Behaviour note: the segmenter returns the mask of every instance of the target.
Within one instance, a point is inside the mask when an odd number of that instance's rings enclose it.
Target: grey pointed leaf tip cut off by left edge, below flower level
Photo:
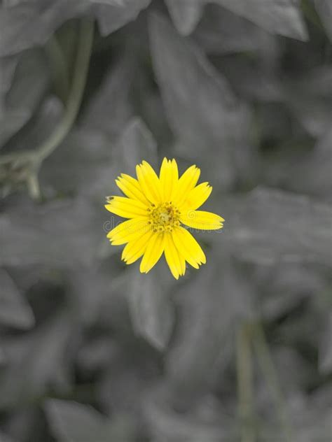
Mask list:
[[[34,314],[21,296],[15,283],[4,269],[0,269],[0,322],[1,324],[29,329],[34,326]]]

